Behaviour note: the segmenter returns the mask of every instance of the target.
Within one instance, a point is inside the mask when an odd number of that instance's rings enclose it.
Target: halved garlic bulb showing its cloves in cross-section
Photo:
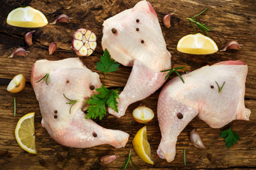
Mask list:
[[[95,33],[85,28],[80,28],[73,35],[72,47],[79,56],[89,56],[97,47]]]

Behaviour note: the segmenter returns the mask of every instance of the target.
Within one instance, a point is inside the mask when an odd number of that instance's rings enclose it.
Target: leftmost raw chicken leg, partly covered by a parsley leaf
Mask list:
[[[41,80],[46,74],[48,78]],[[126,145],[129,137],[126,132],[108,130],[85,119],[82,111],[87,108],[85,101],[97,93],[95,89],[102,84],[99,75],[87,69],[78,58],[38,60],[33,64],[31,84],[39,101],[41,123],[56,142],[80,148]],[[77,102],[72,106],[68,99]]]

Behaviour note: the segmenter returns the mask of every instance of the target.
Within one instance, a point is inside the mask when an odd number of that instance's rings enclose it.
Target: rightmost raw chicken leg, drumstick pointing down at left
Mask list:
[[[171,79],[161,90],[157,106],[162,136],[159,157],[174,160],[177,137],[196,115],[211,128],[235,119],[249,120],[244,101],[247,69],[244,62],[225,61],[184,74],[185,84],[179,77]]]

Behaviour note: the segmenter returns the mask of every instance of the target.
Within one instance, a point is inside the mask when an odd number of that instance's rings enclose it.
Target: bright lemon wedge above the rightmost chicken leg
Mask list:
[[[177,50],[191,55],[210,55],[218,51],[218,46],[212,39],[197,33],[181,38]]]

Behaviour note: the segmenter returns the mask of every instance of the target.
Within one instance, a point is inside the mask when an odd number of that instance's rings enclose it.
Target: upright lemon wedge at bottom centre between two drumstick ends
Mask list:
[[[148,164],[154,164],[151,161],[151,149],[149,142],[146,137],[146,126],[141,128],[132,140],[132,145],[134,147],[135,152],[139,155],[139,157]]]

